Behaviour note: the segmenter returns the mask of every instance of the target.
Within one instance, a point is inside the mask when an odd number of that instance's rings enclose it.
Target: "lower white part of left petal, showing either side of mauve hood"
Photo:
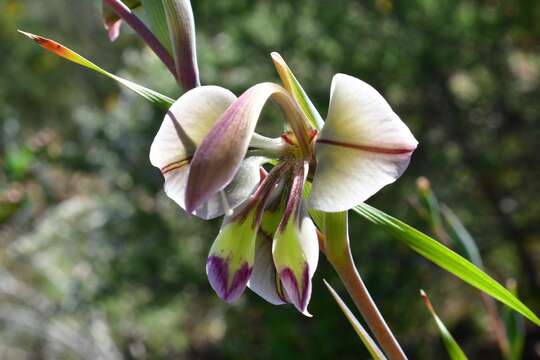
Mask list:
[[[227,207],[234,209],[246,200],[255,190],[260,181],[259,158],[244,160],[236,173],[233,181],[227,185],[223,195],[218,193],[208,202],[195,210],[194,214],[205,220],[213,219],[226,213]],[[165,176],[165,193],[185,210],[186,185],[189,173],[189,165],[168,171]]]

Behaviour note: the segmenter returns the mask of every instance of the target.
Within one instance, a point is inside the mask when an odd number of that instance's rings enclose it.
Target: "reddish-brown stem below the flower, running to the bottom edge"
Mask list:
[[[350,248],[346,247],[346,254],[340,257],[340,261],[332,261],[330,258],[329,260],[388,358],[391,360],[407,359],[362,281]]]

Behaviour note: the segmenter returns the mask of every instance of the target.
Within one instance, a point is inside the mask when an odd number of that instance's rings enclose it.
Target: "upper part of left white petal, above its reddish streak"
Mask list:
[[[150,162],[158,168],[190,158],[236,96],[218,86],[201,86],[171,106],[150,148]]]

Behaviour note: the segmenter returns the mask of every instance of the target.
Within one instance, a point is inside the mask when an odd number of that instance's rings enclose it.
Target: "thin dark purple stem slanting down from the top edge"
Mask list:
[[[163,64],[169,69],[174,78],[177,79],[176,67],[174,59],[171,57],[167,49],[159,42],[158,38],[146,27],[121,0],[105,0],[107,4],[120,16],[126,23],[131,26],[137,34],[148,44],[150,49],[161,59]]]

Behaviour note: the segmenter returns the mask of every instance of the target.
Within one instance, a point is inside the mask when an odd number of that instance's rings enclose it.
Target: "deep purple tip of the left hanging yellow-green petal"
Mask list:
[[[206,261],[206,273],[212,289],[226,302],[232,302],[240,297],[251,276],[253,268],[247,263],[236,271],[232,283],[229,280],[229,261],[219,256],[210,256]]]

